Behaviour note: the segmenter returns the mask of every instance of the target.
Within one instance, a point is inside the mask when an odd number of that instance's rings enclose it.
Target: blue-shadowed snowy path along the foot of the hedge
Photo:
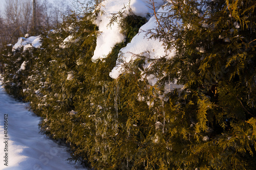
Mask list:
[[[0,169],[86,169],[66,160],[69,157],[66,147],[39,134],[39,117],[29,112],[27,106],[6,94],[0,82]],[[5,114],[8,114],[7,137]]]

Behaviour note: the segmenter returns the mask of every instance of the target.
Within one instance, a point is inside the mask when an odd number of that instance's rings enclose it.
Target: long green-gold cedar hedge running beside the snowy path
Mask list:
[[[97,11],[70,15],[41,34],[40,48],[5,48],[5,89],[30,102],[42,133],[70,144],[71,159],[95,169],[254,169],[255,5],[167,3],[148,34],[175,57],[135,55],[117,79],[109,72],[131,39],[92,61]],[[119,26],[133,37],[145,22],[125,16]],[[173,82],[184,88],[165,93]]]

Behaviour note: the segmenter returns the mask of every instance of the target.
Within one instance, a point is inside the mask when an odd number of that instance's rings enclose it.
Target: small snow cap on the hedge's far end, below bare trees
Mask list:
[[[18,42],[12,47],[12,51],[14,52],[22,46],[24,46],[24,51],[28,50],[28,48],[32,46],[38,48],[41,46],[41,38],[40,36],[31,36],[28,38],[20,37],[18,38]]]

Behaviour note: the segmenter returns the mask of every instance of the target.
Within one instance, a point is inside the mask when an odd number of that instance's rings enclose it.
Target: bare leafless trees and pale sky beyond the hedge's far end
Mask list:
[[[0,14],[0,48],[8,43],[15,43],[26,34],[39,35],[41,31],[58,27],[63,18],[71,13],[71,3],[63,1],[36,1],[36,28],[32,30],[33,1],[6,0],[4,11]]]

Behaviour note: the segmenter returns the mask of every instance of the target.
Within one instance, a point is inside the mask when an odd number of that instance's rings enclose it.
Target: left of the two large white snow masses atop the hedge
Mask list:
[[[155,7],[158,10],[163,4],[164,0],[155,0]],[[104,11],[103,15],[98,15],[95,24],[99,27],[100,35],[97,37],[97,44],[92,57],[93,60],[102,59],[108,55],[115,44],[125,40],[125,36],[120,33],[118,24],[114,23],[108,27],[110,17],[113,13],[117,13],[126,6],[126,15],[138,15],[142,17],[152,16],[154,13],[152,9],[152,1],[147,0],[109,0],[101,3],[101,10]]]

